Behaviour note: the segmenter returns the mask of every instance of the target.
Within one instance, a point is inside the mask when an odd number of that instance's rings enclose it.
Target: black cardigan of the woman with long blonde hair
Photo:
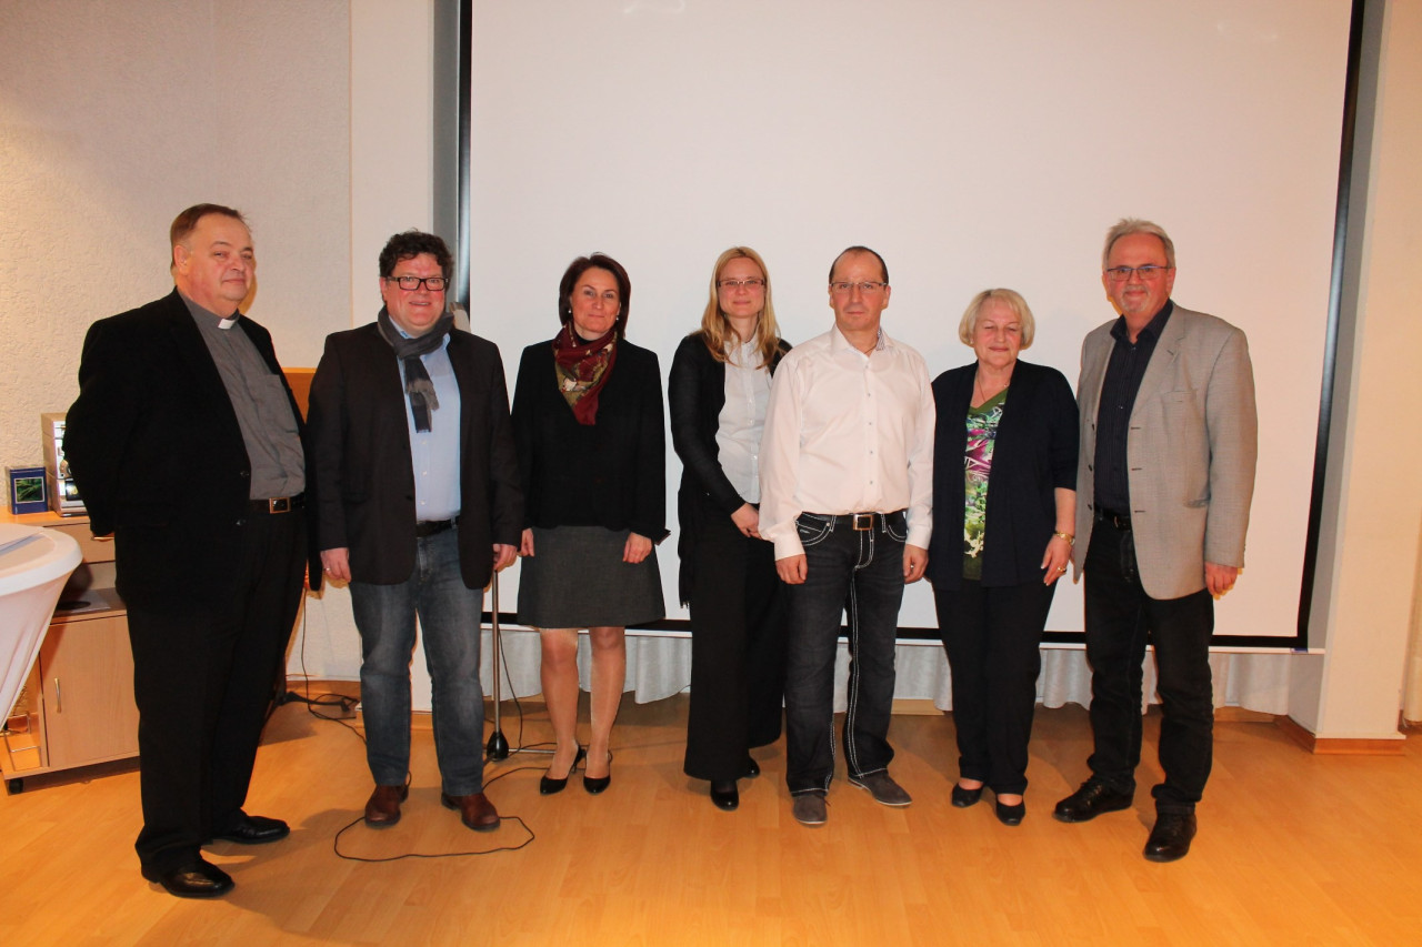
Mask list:
[[[789,350],[789,343],[779,340],[775,358],[771,360],[771,374],[775,374],[775,367]],[[677,556],[681,559],[678,590],[681,603],[687,604],[691,599],[691,550],[695,547],[701,508],[697,501],[710,499],[727,516],[745,503],[721,469],[721,449],[715,442],[721,408],[725,407],[725,363],[711,355],[700,330],[677,346],[677,354],[671,358],[667,397],[671,401],[671,446],[681,458],[681,489],[677,492],[681,532],[677,537]]]

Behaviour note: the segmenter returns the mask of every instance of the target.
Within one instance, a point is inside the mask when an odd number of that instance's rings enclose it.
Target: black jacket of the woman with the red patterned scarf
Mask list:
[[[583,425],[557,390],[553,344],[529,346],[513,388],[513,439],[525,525],[667,537],[667,437],[656,353],[619,341],[597,398],[597,424]]]

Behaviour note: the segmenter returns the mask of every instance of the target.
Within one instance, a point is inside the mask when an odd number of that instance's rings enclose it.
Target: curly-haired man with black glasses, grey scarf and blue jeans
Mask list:
[[[499,828],[483,793],[479,616],[515,559],[523,492],[493,343],[454,327],[445,242],[407,230],[380,255],[375,321],[334,333],[311,380],[317,545],[350,583],[361,636],[365,825],[408,796],[415,617],[434,688],[441,802],[478,832]]]

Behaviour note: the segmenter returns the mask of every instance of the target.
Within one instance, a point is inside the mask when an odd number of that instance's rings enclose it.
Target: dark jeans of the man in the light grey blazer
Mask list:
[[[1152,791],[1159,812],[1190,812],[1210,776],[1214,694],[1210,634],[1214,600],[1204,589],[1152,599],[1140,586],[1130,529],[1096,522],[1086,550],[1086,660],[1091,663],[1088,765],[1118,792],[1135,792],[1140,762],[1140,683],[1146,641],[1155,646],[1160,694],[1160,768]]]

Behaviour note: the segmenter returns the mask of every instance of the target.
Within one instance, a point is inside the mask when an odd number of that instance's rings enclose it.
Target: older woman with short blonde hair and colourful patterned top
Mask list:
[[[978,293],[958,324],[977,361],[933,382],[929,579],[953,675],[953,805],[987,785],[1005,825],[1027,812],[1038,648],[1076,515],[1076,400],[1055,368],[1018,361],[1034,328],[1020,294]]]

